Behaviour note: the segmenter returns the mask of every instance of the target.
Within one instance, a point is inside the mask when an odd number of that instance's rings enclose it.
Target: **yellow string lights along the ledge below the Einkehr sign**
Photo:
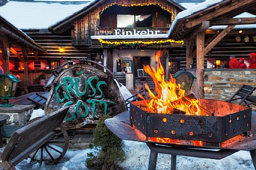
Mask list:
[[[157,45],[157,44],[163,44],[163,43],[181,43],[184,44],[183,40],[175,41],[175,40],[158,40],[158,41],[105,41],[102,39],[98,39],[100,43],[105,45],[132,45],[132,44],[145,44],[145,45]]]

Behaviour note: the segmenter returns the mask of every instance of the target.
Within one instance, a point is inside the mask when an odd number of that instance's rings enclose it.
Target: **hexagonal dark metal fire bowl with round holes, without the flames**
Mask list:
[[[146,137],[201,140],[222,143],[251,129],[252,109],[212,99],[200,99],[201,105],[215,116],[147,113],[131,103],[129,120]]]

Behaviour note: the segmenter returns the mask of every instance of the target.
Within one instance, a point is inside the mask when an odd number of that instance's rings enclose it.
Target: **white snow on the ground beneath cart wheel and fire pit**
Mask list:
[[[125,151],[125,162],[120,166],[125,170],[147,170],[150,157],[150,149],[145,143],[124,140],[123,149]],[[17,170],[87,170],[85,161],[87,153],[94,152],[93,149],[68,150],[59,164],[51,165],[38,162],[29,163],[26,159],[19,163]],[[170,169],[171,156],[168,154],[159,154],[157,159],[157,170]],[[193,157],[177,157],[177,170],[239,170],[254,169],[250,153],[240,151],[232,156],[226,157],[220,161],[213,159],[193,158]]]

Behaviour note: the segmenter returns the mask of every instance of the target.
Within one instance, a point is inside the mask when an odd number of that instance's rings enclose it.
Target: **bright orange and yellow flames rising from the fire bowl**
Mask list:
[[[190,99],[185,96],[185,90],[180,88],[180,84],[176,84],[176,80],[171,74],[169,81],[165,81],[165,71],[160,62],[160,53],[161,51],[156,54],[157,70],[148,65],[143,66],[145,72],[152,77],[157,93],[157,95],[153,94],[148,85],[145,84],[151,100],[145,100],[143,96],[139,95],[145,101],[148,111],[171,114],[174,109],[178,109],[188,115],[201,115],[198,99]]]

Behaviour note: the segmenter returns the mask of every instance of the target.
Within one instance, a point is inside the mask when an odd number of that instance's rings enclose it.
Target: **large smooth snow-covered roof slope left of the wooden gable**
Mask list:
[[[0,14],[20,29],[48,28],[92,2],[63,1],[66,0],[10,1],[0,7]]]

